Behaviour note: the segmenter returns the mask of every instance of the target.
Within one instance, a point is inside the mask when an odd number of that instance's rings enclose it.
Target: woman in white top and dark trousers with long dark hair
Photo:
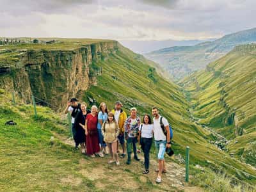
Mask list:
[[[149,115],[143,117],[143,124],[140,125],[139,139],[145,161],[145,170],[142,173],[147,174],[149,172],[149,152],[153,141],[153,124]]]

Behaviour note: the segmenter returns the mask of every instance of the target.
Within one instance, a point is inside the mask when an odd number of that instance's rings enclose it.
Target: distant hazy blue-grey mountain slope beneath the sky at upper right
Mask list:
[[[227,54],[236,45],[256,41],[256,28],[225,35],[213,42],[194,46],[168,47],[145,54],[166,69],[174,79],[182,79],[191,72],[201,70],[211,61]]]

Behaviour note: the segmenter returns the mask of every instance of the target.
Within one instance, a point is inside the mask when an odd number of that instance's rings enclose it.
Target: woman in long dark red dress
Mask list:
[[[100,151],[97,131],[97,110],[97,106],[92,106],[92,112],[86,116],[85,122],[86,153],[91,157],[95,157],[95,154],[98,154]]]

